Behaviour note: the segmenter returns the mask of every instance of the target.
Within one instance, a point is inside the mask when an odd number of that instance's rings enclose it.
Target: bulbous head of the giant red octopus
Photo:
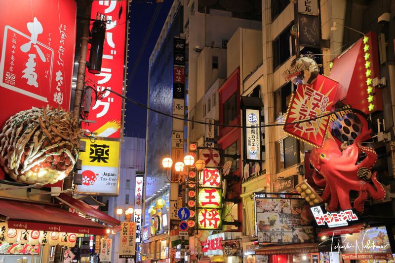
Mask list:
[[[336,141],[326,139],[321,147],[312,150],[310,163],[319,171],[322,164],[333,162],[340,157],[342,157],[342,151]]]

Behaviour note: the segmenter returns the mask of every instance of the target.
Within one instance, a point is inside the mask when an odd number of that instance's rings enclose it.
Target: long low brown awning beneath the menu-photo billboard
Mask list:
[[[255,250],[255,255],[307,254],[318,252],[317,243],[266,246]]]

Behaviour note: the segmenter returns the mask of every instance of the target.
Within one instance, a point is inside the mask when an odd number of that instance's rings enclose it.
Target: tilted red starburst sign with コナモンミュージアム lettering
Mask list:
[[[285,123],[319,117],[331,110],[338,83],[328,77],[318,75],[311,85],[299,85],[287,110]],[[329,116],[311,121],[289,124],[284,131],[296,138],[319,147],[324,142]]]

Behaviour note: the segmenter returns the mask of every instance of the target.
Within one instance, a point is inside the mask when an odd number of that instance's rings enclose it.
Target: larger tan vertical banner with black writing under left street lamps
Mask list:
[[[119,237],[119,258],[132,258],[136,251],[136,223],[122,222]]]

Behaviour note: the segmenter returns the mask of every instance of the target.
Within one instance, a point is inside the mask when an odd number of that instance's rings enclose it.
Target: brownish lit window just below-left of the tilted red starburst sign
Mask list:
[[[288,136],[276,142],[277,172],[300,163],[299,141]]]

